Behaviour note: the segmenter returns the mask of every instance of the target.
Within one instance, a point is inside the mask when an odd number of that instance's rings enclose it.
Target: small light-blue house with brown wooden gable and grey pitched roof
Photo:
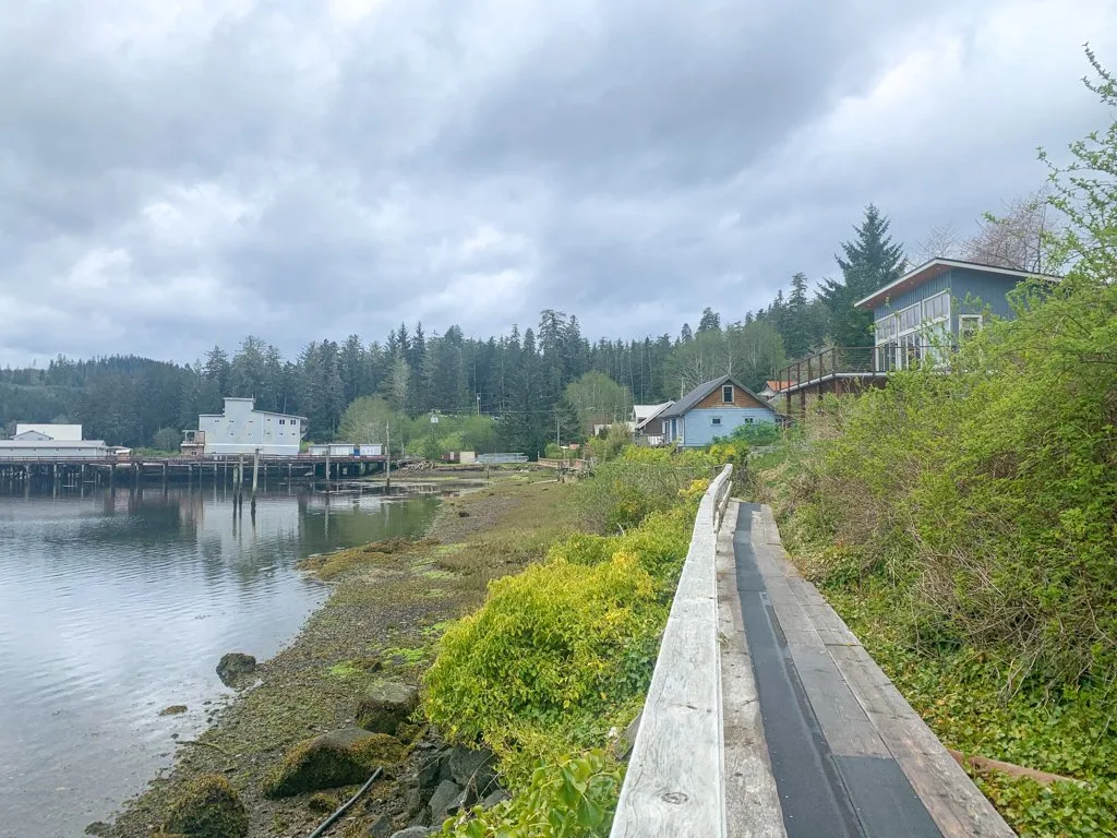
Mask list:
[[[699,384],[652,421],[661,422],[663,444],[700,448],[743,425],[775,422],[779,415],[732,375]]]

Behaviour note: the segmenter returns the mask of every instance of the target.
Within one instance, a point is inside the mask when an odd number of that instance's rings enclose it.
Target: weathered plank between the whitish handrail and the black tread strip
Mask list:
[[[736,503],[729,503],[725,516],[728,521],[737,520]],[[717,591],[725,717],[726,828],[734,838],[786,838],[748,659],[731,527],[723,528],[718,535]]]

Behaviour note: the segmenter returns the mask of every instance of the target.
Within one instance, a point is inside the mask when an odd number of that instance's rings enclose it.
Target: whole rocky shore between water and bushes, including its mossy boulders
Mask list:
[[[548,477],[494,470],[447,501],[422,541],[306,561],[334,587],[326,603],[273,659],[222,660],[240,697],[95,834],[308,836],[378,768],[330,835],[418,838],[459,808],[503,799],[491,754],[441,742],[416,712],[418,686],[447,621],[565,532],[548,514],[565,488]]]

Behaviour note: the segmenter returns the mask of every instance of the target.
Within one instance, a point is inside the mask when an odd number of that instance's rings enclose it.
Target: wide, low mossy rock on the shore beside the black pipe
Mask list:
[[[363,783],[378,765],[399,762],[405,749],[384,733],[345,727],[302,742],[287,754],[264,788],[269,798]]]

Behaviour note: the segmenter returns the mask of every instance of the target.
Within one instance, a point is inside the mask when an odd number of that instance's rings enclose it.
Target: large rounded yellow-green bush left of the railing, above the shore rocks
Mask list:
[[[632,553],[592,565],[562,559],[493,582],[481,609],[446,631],[427,674],[427,713],[446,734],[502,756],[524,729],[592,744],[618,706],[647,688],[666,622]]]

